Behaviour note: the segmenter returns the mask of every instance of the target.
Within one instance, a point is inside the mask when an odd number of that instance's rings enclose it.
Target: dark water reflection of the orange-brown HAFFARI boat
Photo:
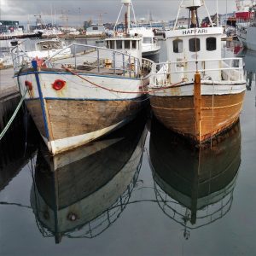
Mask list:
[[[241,131],[218,136],[205,148],[189,148],[158,122],[153,122],[150,161],[159,207],[189,230],[211,224],[230,211],[241,163]]]

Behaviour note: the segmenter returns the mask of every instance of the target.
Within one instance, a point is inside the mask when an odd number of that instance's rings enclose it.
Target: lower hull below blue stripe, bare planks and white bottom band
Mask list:
[[[52,154],[89,143],[125,125],[136,116],[142,104],[140,101],[44,100],[47,139],[39,99],[26,101],[32,119]]]

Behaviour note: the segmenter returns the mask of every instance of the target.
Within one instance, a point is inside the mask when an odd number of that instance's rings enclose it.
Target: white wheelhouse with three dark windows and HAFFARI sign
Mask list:
[[[223,28],[207,27],[173,30],[166,32],[166,45],[168,61],[183,61],[179,65],[185,69],[189,66],[196,66],[196,63],[186,61],[206,60],[198,62],[198,69],[217,69],[218,61],[221,59],[221,38]],[[212,61],[211,61],[212,60]],[[193,67],[192,67],[193,68]],[[196,67],[195,67],[196,69]],[[221,73],[214,71],[206,73],[211,79],[221,79]],[[187,74],[192,79],[193,74]]]

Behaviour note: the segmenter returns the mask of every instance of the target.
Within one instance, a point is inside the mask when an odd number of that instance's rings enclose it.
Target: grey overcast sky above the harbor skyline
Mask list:
[[[219,13],[235,11],[235,0],[218,0]],[[179,0],[133,0],[137,19],[146,18],[151,12],[154,20],[172,20],[177,15]],[[216,13],[216,0],[206,0],[210,14]],[[0,0],[0,20],[18,20],[20,24],[35,24],[34,15],[42,15],[44,22],[51,22],[55,13],[57,24],[79,26],[84,20],[115,21],[121,8],[121,0]],[[64,14],[64,15],[61,15]],[[29,16],[29,17],[28,17]],[[206,14],[204,14],[206,16]],[[67,20],[61,19],[67,17]]]

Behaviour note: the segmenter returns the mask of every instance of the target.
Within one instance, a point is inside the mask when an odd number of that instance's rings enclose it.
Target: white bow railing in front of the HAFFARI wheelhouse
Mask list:
[[[154,63],[150,84],[153,86],[166,86],[181,80],[193,82],[196,71],[201,73],[202,80],[212,80],[212,82],[244,81],[242,59],[223,58]]]

